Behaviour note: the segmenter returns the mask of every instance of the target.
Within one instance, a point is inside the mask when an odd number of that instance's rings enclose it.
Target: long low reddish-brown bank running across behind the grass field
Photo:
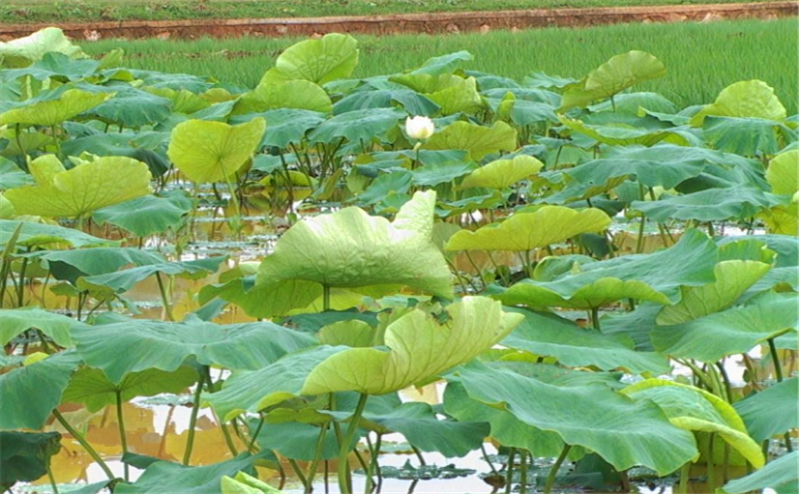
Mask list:
[[[777,19],[798,15],[798,2],[723,5],[670,5],[606,7],[593,9],[532,9],[496,12],[448,12],[369,17],[310,17],[268,19],[220,19],[183,21],[122,21],[59,24],[76,39],[161,38],[194,39],[203,36],[314,36],[330,32],[353,34],[486,32],[492,29],[537,27],[586,27],[626,22],[681,22],[723,19]],[[27,36],[46,24],[6,25],[0,39]]]

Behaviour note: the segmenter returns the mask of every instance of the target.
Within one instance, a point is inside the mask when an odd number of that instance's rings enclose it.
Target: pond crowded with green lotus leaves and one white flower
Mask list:
[[[797,116],[471,59],[0,44],[3,488],[797,492]]]

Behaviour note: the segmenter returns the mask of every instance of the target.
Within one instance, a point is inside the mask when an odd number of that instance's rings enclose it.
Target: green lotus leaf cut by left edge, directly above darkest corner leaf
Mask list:
[[[0,430],[43,427],[79,364],[68,350],[0,375]]]

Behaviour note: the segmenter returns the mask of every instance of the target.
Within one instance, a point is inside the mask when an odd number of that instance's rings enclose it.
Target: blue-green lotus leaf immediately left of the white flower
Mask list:
[[[336,143],[347,139],[353,143],[370,142],[386,134],[406,113],[399,108],[377,108],[342,113],[326,120],[311,131],[309,141]]]

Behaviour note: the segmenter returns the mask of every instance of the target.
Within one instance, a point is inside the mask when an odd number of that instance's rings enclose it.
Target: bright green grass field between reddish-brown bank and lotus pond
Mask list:
[[[713,101],[725,86],[745,79],[761,79],[773,86],[791,114],[798,107],[797,19],[358,39],[361,56],[356,77],[400,72],[458,50],[475,55],[468,68],[516,80],[537,70],[579,77],[615,54],[638,49],[663,60],[667,75],[637,88],[659,92],[681,107]],[[96,55],[122,47],[126,65],[133,68],[208,75],[231,85],[253,87],[280,50],[296,41],[107,40],[82,46]]]

